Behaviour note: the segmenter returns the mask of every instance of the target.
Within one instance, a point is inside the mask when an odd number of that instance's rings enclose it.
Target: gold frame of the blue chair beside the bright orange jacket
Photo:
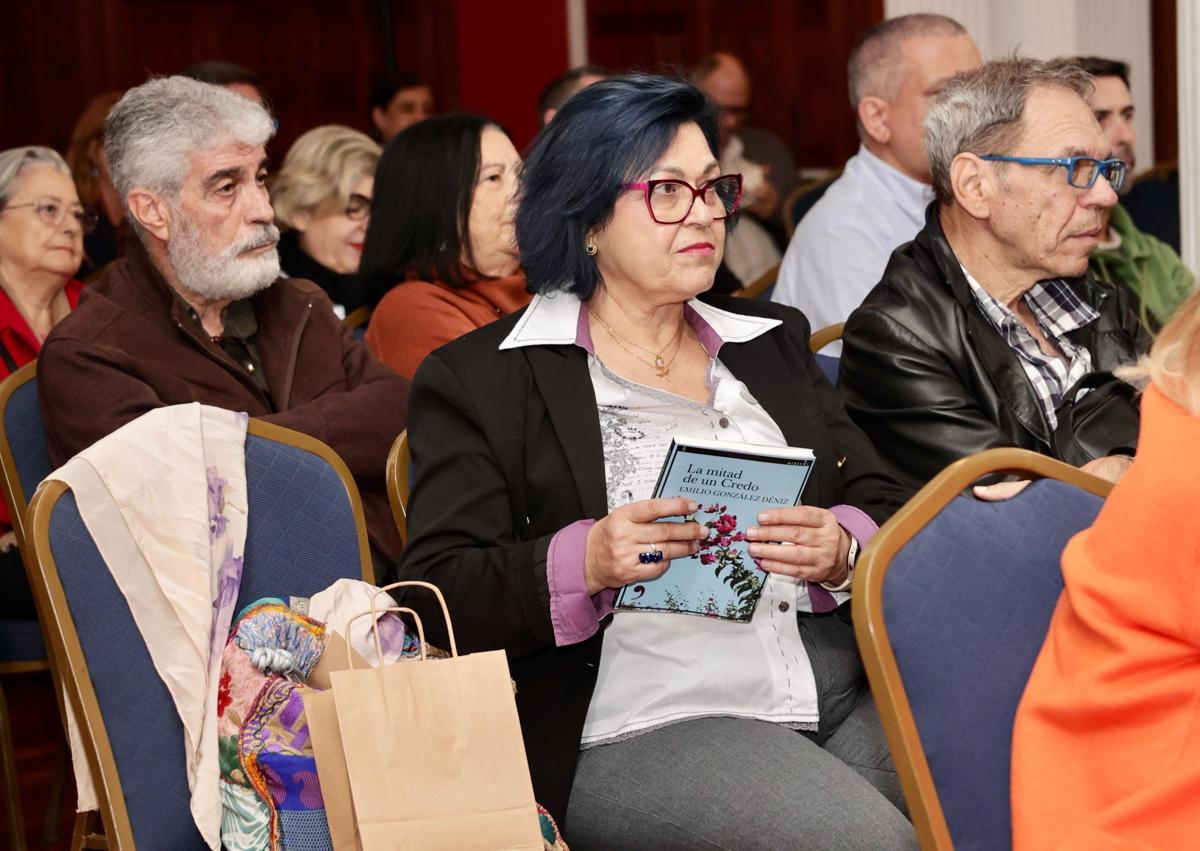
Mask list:
[[[1057,479],[1102,498],[1112,490],[1111,483],[1045,455],[1026,449],[989,449],[955,461],[938,473],[875,533],[858,559],[851,594],[854,635],[924,851],[953,851],[954,844],[888,639],[883,621],[883,579],[896,552],[964,489],[991,473]]]

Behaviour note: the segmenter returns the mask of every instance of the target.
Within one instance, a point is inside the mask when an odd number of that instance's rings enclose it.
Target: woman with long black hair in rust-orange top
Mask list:
[[[397,136],[376,178],[360,278],[366,342],[410,378],[443,343],[529,304],[514,236],[521,155],[481,115]]]

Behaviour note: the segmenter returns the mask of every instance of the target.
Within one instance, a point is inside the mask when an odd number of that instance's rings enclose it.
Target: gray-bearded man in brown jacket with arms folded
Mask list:
[[[244,410],[332,447],[372,539],[395,557],[384,467],[408,383],[353,340],[319,287],[280,278],[271,133],[262,104],[187,77],[152,79],[113,107],[108,163],[139,242],[42,347],[50,461],[163,404]]]

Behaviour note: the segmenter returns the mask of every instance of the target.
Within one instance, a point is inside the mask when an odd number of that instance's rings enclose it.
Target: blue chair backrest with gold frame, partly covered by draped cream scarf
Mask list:
[[[329,447],[252,420],[250,502],[238,607],[310,597],[342,577],[372,581],[358,490]],[[184,731],[130,607],[83,523],[74,495],[52,481],[30,511],[35,594],[66,660],[109,847],[200,851],[188,813]]]

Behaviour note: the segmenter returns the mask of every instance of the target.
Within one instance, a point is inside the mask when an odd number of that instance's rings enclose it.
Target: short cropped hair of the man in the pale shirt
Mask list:
[[[893,100],[904,86],[904,44],[910,38],[965,36],[962,24],[944,14],[901,14],[876,24],[858,36],[850,52],[850,106],[868,96]]]

